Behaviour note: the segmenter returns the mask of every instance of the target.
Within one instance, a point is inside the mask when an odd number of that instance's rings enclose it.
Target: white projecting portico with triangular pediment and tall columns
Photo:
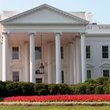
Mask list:
[[[1,23],[3,81],[10,80],[12,71],[19,68],[23,81],[36,82],[38,75],[35,72],[41,60],[35,59],[35,46],[40,45],[41,35],[45,74],[38,77],[43,77],[43,82],[62,83],[63,70],[64,83],[73,84],[86,80],[86,20],[44,4]],[[11,53],[8,51],[14,42],[18,46],[21,44],[22,55],[21,61],[12,60],[12,65],[9,63]],[[64,48],[64,59],[61,59],[61,46]],[[16,64],[18,66],[14,66]]]

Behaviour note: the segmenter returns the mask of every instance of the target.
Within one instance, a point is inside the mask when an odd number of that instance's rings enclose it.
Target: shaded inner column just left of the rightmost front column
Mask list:
[[[80,55],[79,55],[79,38],[76,38],[76,71],[77,71],[77,83],[81,81],[81,73],[80,73]]]

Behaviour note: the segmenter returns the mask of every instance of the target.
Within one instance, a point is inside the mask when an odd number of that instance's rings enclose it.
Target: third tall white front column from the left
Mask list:
[[[56,83],[61,83],[61,46],[60,33],[56,33]]]

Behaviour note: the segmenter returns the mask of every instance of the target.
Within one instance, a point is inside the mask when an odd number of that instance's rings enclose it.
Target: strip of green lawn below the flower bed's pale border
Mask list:
[[[0,110],[110,110],[110,106],[0,106]]]

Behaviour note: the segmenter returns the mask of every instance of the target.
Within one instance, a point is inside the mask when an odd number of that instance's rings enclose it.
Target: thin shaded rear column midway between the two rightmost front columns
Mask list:
[[[70,84],[74,84],[74,55],[73,42],[70,43]]]

